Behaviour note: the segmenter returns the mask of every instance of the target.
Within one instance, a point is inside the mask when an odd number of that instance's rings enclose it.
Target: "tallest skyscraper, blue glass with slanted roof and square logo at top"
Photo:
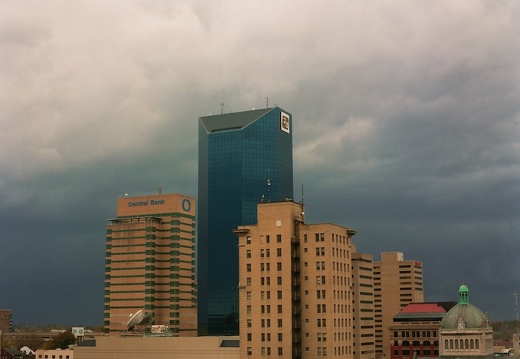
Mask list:
[[[200,335],[238,334],[232,229],[259,202],[293,196],[291,114],[274,107],[199,118],[197,286]]]

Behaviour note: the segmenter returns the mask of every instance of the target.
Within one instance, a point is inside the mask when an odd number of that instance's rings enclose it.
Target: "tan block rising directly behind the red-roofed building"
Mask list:
[[[390,357],[388,328],[412,302],[424,302],[422,263],[405,260],[401,252],[381,253],[381,261],[374,262],[376,358]]]

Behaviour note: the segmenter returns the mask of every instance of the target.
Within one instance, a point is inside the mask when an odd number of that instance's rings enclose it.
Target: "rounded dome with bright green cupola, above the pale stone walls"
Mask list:
[[[469,302],[469,288],[459,287],[459,304],[451,308],[442,319],[443,329],[476,329],[488,327],[486,315]]]

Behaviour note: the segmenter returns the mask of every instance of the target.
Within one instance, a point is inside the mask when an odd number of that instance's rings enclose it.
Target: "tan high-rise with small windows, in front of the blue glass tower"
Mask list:
[[[258,204],[235,229],[240,258],[240,357],[351,357],[350,228],[306,224],[303,205]]]

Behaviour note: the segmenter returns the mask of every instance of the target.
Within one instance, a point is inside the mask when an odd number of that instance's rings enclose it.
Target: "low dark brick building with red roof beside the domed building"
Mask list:
[[[442,318],[456,303],[410,303],[394,317],[389,327],[391,359],[439,356]]]

